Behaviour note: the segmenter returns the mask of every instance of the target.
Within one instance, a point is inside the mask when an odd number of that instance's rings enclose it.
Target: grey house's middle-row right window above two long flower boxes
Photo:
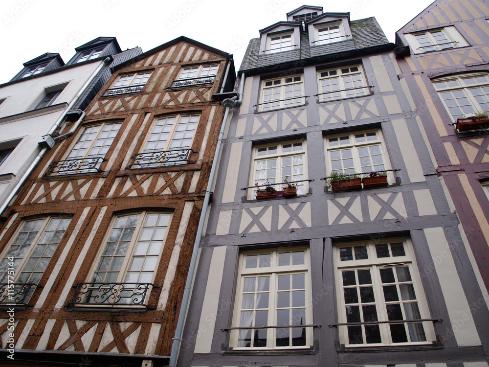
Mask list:
[[[389,169],[379,130],[346,133],[325,138],[328,174],[370,173]]]

